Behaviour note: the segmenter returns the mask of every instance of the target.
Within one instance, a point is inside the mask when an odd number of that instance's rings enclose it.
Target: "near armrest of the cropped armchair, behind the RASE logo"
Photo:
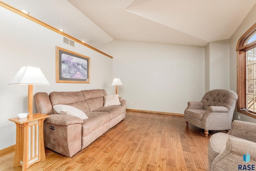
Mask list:
[[[250,154],[250,162],[243,161],[244,154]],[[238,162],[240,161],[240,162]],[[228,138],[226,148],[222,153],[214,158],[212,161],[213,170],[238,170],[238,165],[255,164],[256,162],[256,143],[239,139],[235,137]]]

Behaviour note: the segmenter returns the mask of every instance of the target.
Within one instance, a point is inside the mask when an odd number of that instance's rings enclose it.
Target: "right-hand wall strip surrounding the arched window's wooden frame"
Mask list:
[[[236,32],[230,38],[230,89],[236,92],[236,44],[240,37],[253,25],[256,23],[256,5],[252,8],[250,13],[246,16],[242,24],[238,27]],[[238,119],[238,115],[241,116],[242,121],[254,122],[256,123],[256,119],[239,113],[235,110],[233,119]]]

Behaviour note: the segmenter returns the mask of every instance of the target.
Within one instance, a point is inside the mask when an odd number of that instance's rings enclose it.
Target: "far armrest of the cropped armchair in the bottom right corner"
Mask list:
[[[234,135],[242,139],[247,139],[249,141],[256,142],[255,130],[256,130],[256,123],[234,120],[232,122],[232,126],[228,134]]]

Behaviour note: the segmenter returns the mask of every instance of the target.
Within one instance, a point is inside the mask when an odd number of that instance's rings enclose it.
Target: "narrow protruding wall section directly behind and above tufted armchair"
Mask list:
[[[214,41],[205,47],[206,92],[212,89],[229,89],[229,40]]]

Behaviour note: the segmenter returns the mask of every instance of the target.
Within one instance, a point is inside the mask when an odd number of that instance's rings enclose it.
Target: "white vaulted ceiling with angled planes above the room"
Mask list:
[[[230,39],[256,0],[2,0],[98,48],[112,40],[188,46]]]

